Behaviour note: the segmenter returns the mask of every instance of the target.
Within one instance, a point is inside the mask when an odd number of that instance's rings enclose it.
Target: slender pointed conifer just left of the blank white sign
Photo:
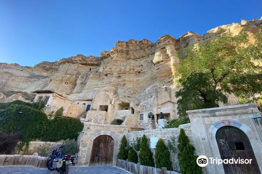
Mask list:
[[[140,149],[141,151],[138,157],[141,165],[153,167],[154,166],[153,154],[150,148],[148,148],[146,135],[143,135],[141,139]]]

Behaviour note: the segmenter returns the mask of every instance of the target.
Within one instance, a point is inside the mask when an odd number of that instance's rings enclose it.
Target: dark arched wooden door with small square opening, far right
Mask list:
[[[225,174],[261,174],[247,135],[233,126],[219,128],[216,133],[221,159],[252,159],[251,164],[223,164]]]

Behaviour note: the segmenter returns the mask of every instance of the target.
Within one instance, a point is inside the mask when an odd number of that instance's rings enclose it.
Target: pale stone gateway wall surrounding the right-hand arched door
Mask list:
[[[255,124],[255,120],[252,119],[252,110],[259,113],[255,103],[187,111],[197,155],[221,159],[216,132],[223,126],[233,126],[247,135],[262,173],[262,161],[260,160],[262,157],[262,127],[261,123]],[[217,164],[207,165],[203,167],[203,171],[215,174],[225,173],[223,165]]]

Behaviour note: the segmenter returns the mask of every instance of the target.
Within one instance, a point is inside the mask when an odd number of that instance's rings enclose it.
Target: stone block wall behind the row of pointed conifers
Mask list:
[[[196,147],[190,123],[182,124],[178,128],[134,131],[134,132],[126,134],[126,137],[127,137],[127,140],[128,140],[128,144],[130,144],[130,142],[133,141],[133,139],[136,139],[136,137],[142,137],[145,134],[146,137],[148,138],[148,147],[150,147],[150,137],[153,137],[153,136],[159,137],[159,139],[160,138],[163,139],[165,145],[167,145],[167,139],[170,139],[170,137],[172,135],[174,135],[176,137],[176,146],[177,146],[177,144],[178,144],[178,142],[177,142],[178,141],[178,136],[179,136],[181,128],[183,128],[185,130],[185,133],[186,133],[186,135],[188,136],[188,138],[190,140],[190,144],[192,144],[194,147]],[[151,149],[151,151],[154,154],[154,150]],[[154,157],[154,155],[153,155],[153,157]],[[170,160],[172,161],[171,153],[170,153]],[[173,156],[173,160],[177,164],[178,171],[180,171],[180,168],[178,166],[177,155],[176,155],[176,157]],[[175,164],[174,164],[174,166],[176,168]],[[172,167],[173,167],[173,165],[172,165]]]

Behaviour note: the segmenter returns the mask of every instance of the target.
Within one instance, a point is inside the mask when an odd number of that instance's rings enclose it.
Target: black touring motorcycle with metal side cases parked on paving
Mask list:
[[[69,171],[68,165],[76,164],[77,162],[78,162],[77,155],[63,155],[61,158],[55,158],[53,160],[52,168],[60,174],[68,174]]]

